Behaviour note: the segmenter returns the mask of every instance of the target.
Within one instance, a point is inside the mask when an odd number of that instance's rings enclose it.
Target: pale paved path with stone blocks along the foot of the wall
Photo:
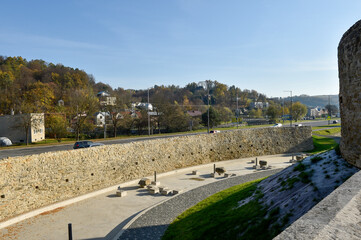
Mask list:
[[[253,159],[255,158],[223,161],[217,162],[216,165],[224,167],[228,173],[236,173],[237,176],[266,172],[254,170],[252,168],[254,164],[251,163]],[[289,154],[258,157],[258,160],[267,160],[274,167],[273,169],[289,166],[290,159]],[[191,175],[192,170],[195,169],[198,170],[198,175]],[[182,189],[185,194],[200,186],[223,181],[224,178],[208,177],[211,172],[213,172],[213,163],[158,174],[157,180],[161,185],[171,189]],[[72,223],[73,239],[112,239],[144,209],[177,197],[177,195],[150,195],[146,189],[138,188],[137,182],[138,180],[121,184],[122,189],[127,190],[128,193],[125,197],[116,197],[117,186],[114,186],[110,192],[71,205],[50,208],[51,210],[40,215],[0,229],[0,239],[68,239],[68,223]]]

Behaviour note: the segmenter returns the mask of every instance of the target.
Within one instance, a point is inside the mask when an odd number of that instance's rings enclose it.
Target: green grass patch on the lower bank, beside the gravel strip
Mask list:
[[[262,195],[256,189],[261,180],[231,187],[199,202],[179,215],[162,239],[272,239],[280,232],[280,226],[269,229],[278,212],[276,209],[267,215],[267,208],[258,201]],[[258,195],[256,200],[238,207],[239,201],[253,193]]]

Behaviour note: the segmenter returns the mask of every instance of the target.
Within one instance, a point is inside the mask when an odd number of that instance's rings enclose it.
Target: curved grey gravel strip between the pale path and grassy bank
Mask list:
[[[176,195],[156,205],[138,217],[118,238],[123,239],[161,239],[173,220],[188,208],[207,197],[232,186],[268,177],[283,169],[259,171],[252,174],[225,178],[217,182],[192,189]]]

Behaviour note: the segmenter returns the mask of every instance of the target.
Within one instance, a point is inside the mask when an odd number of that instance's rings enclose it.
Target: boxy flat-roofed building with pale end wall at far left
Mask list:
[[[0,137],[7,137],[13,143],[25,143],[28,125],[29,143],[45,139],[44,113],[24,113],[0,116]]]

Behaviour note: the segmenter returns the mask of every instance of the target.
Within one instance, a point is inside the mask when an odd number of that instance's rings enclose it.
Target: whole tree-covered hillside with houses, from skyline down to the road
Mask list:
[[[45,113],[47,137],[58,139],[101,137],[104,126],[108,136],[145,134],[148,124],[152,133],[195,130],[207,127],[208,109],[210,127],[236,119],[275,122],[290,112],[290,101],[282,106],[279,99],[267,99],[256,90],[218,81],[113,89],[83,70],[22,57],[0,56],[0,93],[0,115]],[[148,103],[148,94],[152,109],[137,107],[137,103]],[[109,104],[102,98],[115,100]],[[295,110],[300,109],[300,103],[294,104]],[[304,109],[297,111],[297,119],[305,115]],[[99,112],[106,118],[105,124],[96,123]]]

